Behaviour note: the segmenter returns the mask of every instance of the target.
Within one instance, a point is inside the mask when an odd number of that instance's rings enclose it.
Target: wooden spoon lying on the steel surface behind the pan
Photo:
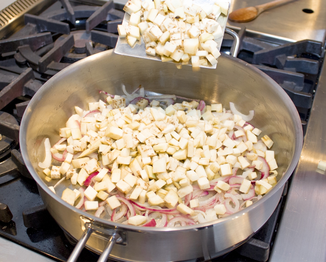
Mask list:
[[[267,9],[278,7],[293,1],[296,0],[275,0],[273,2],[269,2],[259,6],[240,8],[230,13],[229,19],[232,22],[236,22],[236,23],[249,22],[251,20],[254,20],[256,17],[258,17],[262,12],[266,11]]]

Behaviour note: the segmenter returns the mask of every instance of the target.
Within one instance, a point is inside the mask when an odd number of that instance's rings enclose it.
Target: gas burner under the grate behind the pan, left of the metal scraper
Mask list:
[[[75,43],[73,48],[71,48],[61,59],[62,63],[74,63],[87,57],[89,55],[87,47],[92,47],[94,54],[105,51],[109,48],[106,45],[92,42],[91,33],[87,33],[86,30],[76,30],[70,32],[70,34],[74,36]],[[67,37],[67,34],[59,36],[57,40],[55,40],[54,46],[57,46]]]

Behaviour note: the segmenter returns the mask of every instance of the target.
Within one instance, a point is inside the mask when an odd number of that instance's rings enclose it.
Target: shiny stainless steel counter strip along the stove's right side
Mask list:
[[[326,66],[269,261],[326,261]]]

